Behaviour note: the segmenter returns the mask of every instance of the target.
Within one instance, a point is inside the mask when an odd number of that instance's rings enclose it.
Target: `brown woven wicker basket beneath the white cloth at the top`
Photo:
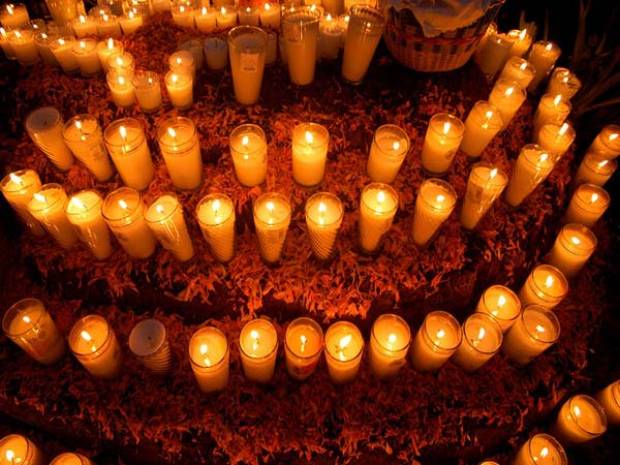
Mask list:
[[[385,9],[385,43],[396,60],[416,71],[460,68],[471,58],[503,3],[504,0],[493,1],[486,13],[469,26],[432,38],[424,37],[411,10],[388,6]]]

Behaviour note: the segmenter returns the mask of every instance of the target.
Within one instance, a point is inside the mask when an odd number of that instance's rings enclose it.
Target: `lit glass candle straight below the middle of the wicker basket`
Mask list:
[[[433,115],[428,123],[422,148],[422,167],[432,174],[443,174],[452,164],[463,140],[465,125],[448,113]]]

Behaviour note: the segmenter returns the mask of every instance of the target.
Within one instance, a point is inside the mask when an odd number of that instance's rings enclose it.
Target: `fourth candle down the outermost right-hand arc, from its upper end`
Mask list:
[[[549,255],[549,264],[572,278],[590,259],[596,248],[596,236],[587,226],[570,223],[562,227]]]

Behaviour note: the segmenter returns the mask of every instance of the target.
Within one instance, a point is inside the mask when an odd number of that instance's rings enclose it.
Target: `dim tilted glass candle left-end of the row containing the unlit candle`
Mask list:
[[[2,318],[4,334],[30,357],[52,365],[65,354],[65,340],[43,302],[32,297],[15,302]]]

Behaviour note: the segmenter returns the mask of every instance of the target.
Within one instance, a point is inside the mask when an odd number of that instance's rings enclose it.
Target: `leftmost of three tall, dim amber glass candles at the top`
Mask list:
[[[235,27],[228,32],[228,53],[237,102],[255,104],[263,83],[267,34],[258,27]]]

